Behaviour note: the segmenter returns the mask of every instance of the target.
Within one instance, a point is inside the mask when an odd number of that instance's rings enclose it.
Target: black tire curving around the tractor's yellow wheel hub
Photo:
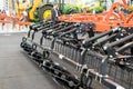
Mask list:
[[[40,21],[44,20],[43,13],[44,13],[45,10],[52,10],[52,6],[43,6],[43,7],[40,8],[40,11],[39,11]]]

